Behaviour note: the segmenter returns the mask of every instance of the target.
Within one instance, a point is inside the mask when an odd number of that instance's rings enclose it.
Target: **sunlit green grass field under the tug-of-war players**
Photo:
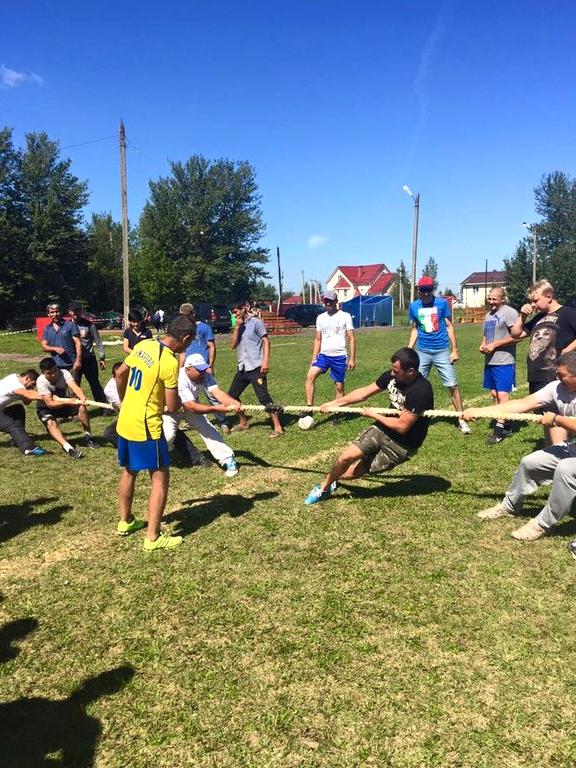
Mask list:
[[[488,404],[480,329],[457,332],[464,400]],[[360,333],[349,388],[373,381],[407,337],[407,328]],[[310,351],[310,336],[272,340],[278,402],[303,402]],[[24,336],[0,338],[0,353],[1,375],[28,367],[15,354],[42,356]],[[222,340],[224,387],[233,369]],[[448,407],[433,383],[436,406]],[[323,377],[317,402],[331,397]],[[108,421],[94,419],[97,436]],[[576,527],[568,520],[522,544],[509,535],[517,521],[475,516],[500,499],[541,429],[487,446],[487,422],[470,436],[434,422],[410,462],[305,507],[366,423],[319,419],[304,433],[292,420],[269,440],[256,416],[229,439],[236,478],[173,468],[166,525],[185,540],[152,555],[140,534],[115,535],[111,447],[73,462],[32,409],[29,429],[49,456],[24,459],[0,436],[0,763],[574,766],[576,571],[566,542]],[[64,429],[80,436],[77,424]],[[136,513],[147,491],[142,476]]]

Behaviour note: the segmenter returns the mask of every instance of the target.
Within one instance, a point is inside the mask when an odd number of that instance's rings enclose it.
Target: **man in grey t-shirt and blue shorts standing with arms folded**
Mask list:
[[[506,403],[516,381],[516,344],[510,328],[518,318],[518,312],[506,304],[504,288],[492,288],[488,294],[490,311],[484,318],[484,334],[480,352],[484,357],[484,388],[490,390],[494,404]],[[499,419],[494,432],[486,441],[488,445],[501,443],[512,432]]]

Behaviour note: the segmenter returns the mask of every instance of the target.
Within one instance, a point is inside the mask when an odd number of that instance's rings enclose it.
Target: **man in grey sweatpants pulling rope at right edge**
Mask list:
[[[559,427],[576,432],[576,352],[565,352],[556,365],[557,381],[546,384],[542,389],[521,400],[488,408],[468,408],[464,411],[466,420],[481,416],[483,412],[528,413],[543,409],[540,421],[545,427]],[[520,541],[535,541],[556,525],[572,507],[576,494],[576,441],[550,445],[541,451],[524,456],[506,495],[499,504],[478,512],[482,520],[511,517],[522,511],[522,502],[530,493],[552,481],[548,503],[540,513],[515,531],[512,536]]]

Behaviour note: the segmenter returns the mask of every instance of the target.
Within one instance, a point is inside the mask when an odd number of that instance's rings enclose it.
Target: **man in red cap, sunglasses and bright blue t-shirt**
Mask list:
[[[450,390],[454,408],[462,411],[462,395],[454,370],[458,345],[452,312],[446,299],[434,296],[434,280],[428,275],[418,281],[418,298],[410,304],[408,318],[412,321],[408,346],[414,349],[418,343],[420,373],[428,377],[434,366],[442,384]],[[458,429],[465,435],[470,434],[470,427],[463,419],[458,420]]]

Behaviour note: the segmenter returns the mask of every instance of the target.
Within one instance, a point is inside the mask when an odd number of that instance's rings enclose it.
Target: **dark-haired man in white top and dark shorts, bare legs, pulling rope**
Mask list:
[[[42,395],[42,400],[36,406],[38,418],[48,430],[50,437],[62,446],[64,453],[71,459],[81,459],[82,451],[74,448],[66,440],[58,426],[58,419],[78,416],[78,421],[84,429],[84,445],[93,450],[98,448],[90,431],[86,395],[76,384],[70,371],[66,368],[58,368],[51,357],[40,360],[40,370],[42,373],[36,381],[38,394]],[[72,402],[67,399],[70,393],[73,395]],[[62,401],[61,398],[64,400]]]

